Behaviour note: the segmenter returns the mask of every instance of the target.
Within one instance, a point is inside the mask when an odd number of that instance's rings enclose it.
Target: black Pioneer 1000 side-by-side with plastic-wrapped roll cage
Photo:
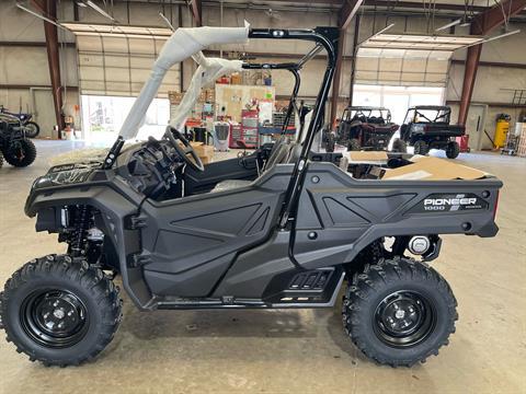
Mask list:
[[[123,149],[173,63],[192,55],[199,62],[191,99],[179,106],[192,108],[201,82],[251,68],[199,50],[248,37],[313,42],[288,67],[295,72],[327,51],[302,140],[281,138],[254,160],[253,176],[232,161],[203,165],[180,132],[179,114],[162,138]],[[113,282],[119,275],[142,311],[332,308],[343,287],[345,332],[371,359],[411,366],[447,344],[457,303],[426,262],[441,251],[439,234],[496,234],[502,184],[355,179],[333,163],[309,160],[338,37],[332,27],[178,30],[106,158],[55,166],[33,184],[25,212],[37,217],[37,231],[58,233],[67,252],[31,260],[8,280],[1,294],[8,340],[45,364],[92,359],[122,320]]]

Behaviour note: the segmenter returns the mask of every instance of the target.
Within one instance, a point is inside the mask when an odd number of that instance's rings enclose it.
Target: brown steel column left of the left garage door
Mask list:
[[[33,3],[49,19],[57,20],[57,2],[55,0],[33,0]],[[58,136],[64,129],[62,116],[62,91],[60,82],[60,57],[58,53],[57,26],[44,21],[44,33],[46,36],[47,61],[49,66],[49,79],[52,81],[53,104],[55,106],[55,118],[58,125]]]

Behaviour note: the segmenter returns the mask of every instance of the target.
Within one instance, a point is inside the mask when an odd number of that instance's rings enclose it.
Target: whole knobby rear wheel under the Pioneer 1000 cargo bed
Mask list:
[[[354,275],[343,300],[343,325],[370,359],[411,367],[448,344],[456,306],[433,268],[410,258],[382,259]]]

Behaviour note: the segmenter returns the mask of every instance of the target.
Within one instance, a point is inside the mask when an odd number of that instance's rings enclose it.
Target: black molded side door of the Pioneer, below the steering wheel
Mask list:
[[[256,181],[222,193],[145,201],[141,256],[155,294],[206,297],[238,253],[270,236],[286,185],[258,186]]]

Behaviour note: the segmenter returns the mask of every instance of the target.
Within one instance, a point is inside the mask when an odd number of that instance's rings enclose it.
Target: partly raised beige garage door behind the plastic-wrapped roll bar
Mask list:
[[[64,24],[77,35],[81,94],[136,96],[171,35],[168,28]],[[180,66],[168,71],[159,97],[180,90]]]

